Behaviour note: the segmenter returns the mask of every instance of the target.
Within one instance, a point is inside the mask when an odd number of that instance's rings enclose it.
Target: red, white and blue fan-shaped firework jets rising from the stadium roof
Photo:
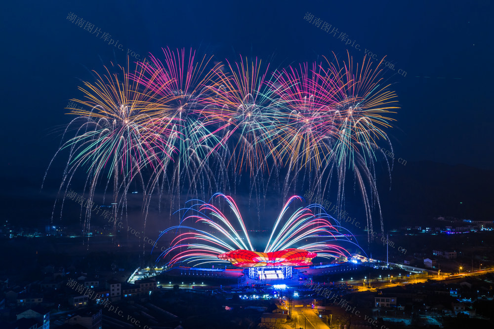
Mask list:
[[[320,252],[322,257],[335,259],[350,255],[341,246],[342,243],[358,247],[354,242],[355,237],[351,234],[341,234],[338,231],[338,228],[341,228],[339,223],[326,214],[320,205],[300,207],[287,219],[286,214],[289,213],[292,203],[302,200],[299,196],[292,196],[285,203],[268,239],[265,254],[293,249],[300,252],[304,250]],[[213,205],[213,201],[218,202],[219,206]],[[157,261],[166,258],[169,259],[169,266],[177,262],[195,266],[198,262],[201,264],[224,262],[225,260],[218,259],[218,255],[229,252],[256,253],[239,208],[230,196],[216,193],[208,203],[197,200],[193,202],[195,203],[192,206],[184,209],[184,218],[180,221],[180,225],[169,227],[158,237],[157,240],[168,232],[184,231],[177,234],[170,247],[158,257]],[[220,211],[222,202],[226,203],[226,210],[233,215],[232,221],[225,212]],[[259,256],[262,258],[261,254]]]

